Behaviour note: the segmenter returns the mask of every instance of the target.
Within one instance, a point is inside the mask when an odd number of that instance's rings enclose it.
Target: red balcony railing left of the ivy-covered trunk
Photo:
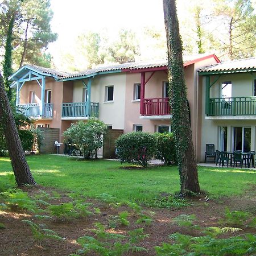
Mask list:
[[[142,115],[170,115],[169,98],[145,98]]]

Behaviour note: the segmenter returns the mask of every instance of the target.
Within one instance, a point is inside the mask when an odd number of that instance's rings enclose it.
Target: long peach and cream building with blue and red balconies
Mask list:
[[[185,81],[197,159],[201,157],[201,89],[197,70],[220,61],[215,55],[184,56]],[[13,75],[16,105],[36,126],[63,131],[72,122],[96,117],[111,129],[171,131],[167,61],[98,67],[75,74],[24,65]]]

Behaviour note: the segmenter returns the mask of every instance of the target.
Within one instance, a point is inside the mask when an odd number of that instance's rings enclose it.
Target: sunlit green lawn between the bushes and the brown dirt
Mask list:
[[[81,192],[88,197],[109,193],[118,199],[142,202],[163,192],[179,191],[177,167],[127,170],[116,161],[81,161],[56,155],[31,155],[27,160],[38,184]],[[9,182],[8,174],[12,173],[10,160],[0,158],[0,180]],[[256,171],[199,167],[199,180],[201,189],[209,196],[241,195],[253,189]]]

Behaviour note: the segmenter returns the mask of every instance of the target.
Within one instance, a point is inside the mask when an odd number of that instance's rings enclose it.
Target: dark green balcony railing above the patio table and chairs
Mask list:
[[[210,98],[208,115],[256,115],[256,97]]]

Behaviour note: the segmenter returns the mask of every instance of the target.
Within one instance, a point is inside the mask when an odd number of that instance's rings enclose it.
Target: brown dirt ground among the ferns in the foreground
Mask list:
[[[39,193],[45,191],[49,195],[56,195],[56,189],[35,187],[24,188],[23,191],[27,191],[29,195],[36,196]],[[60,204],[71,202],[71,197],[68,196],[68,192],[60,192],[59,196],[48,199],[48,203]],[[180,232],[182,234],[188,234],[191,236],[199,236],[200,230],[192,230],[188,228],[179,227],[172,222],[174,217],[180,214],[195,214],[196,223],[201,228],[209,226],[220,226],[218,221],[223,217],[224,210],[229,207],[231,210],[249,210],[253,214],[256,209],[255,197],[251,196],[251,192],[242,197],[222,198],[218,201],[208,200],[204,197],[190,200],[191,204],[188,207],[180,209],[152,209],[145,208],[146,211],[154,211],[153,221],[150,225],[136,224],[138,215],[131,210],[131,208],[122,205],[119,208],[109,206],[107,203],[101,201],[86,199],[86,202],[92,203],[90,210],[98,208],[100,212],[94,213],[88,217],[73,218],[72,220],[38,220],[32,214],[28,214],[25,211],[9,212],[7,210],[0,211],[0,222],[5,225],[5,229],[0,229],[0,255],[3,256],[43,256],[43,255],[69,255],[74,254],[80,245],[76,242],[77,238],[81,236],[93,236],[93,233],[88,230],[94,228],[95,222],[108,226],[114,216],[118,216],[118,213],[127,211],[129,217],[127,220],[130,222],[129,226],[117,225],[115,229],[109,228],[109,232],[115,232],[118,234],[126,235],[129,230],[138,228],[144,229],[144,234],[150,236],[139,242],[137,245],[145,247],[147,253],[130,253],[128,255],[155,255],[154,246],[160,245],[162,242],[170,242],[168,235]],[[43,207],[42,207],[43,208]],[[64,241],[55,240],[43,240],[36,241],[31,233],[31,228],[22,220],[30,220],[36,224],[46,225],[48,229],[54,230],[59,236],[64,237]],[[252,230],[244,230],[244,232],[252,232]],[[90,254],[94,255],[94,254]]]

